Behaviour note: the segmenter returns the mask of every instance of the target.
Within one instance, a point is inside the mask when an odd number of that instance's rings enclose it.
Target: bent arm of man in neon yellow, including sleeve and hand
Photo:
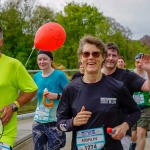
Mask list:
[[[37,90],[35,82],[21,63],[19,67],[16,67],[16,73],[10,85],[15,89],[11,92],[16,92],[16,95],[14,97],[15,99],[11,99],[9,105],[7,103],[7,105],[0,110],[0,112],[2,112],[1,119],[4,125],[10,121],[14,114],[11,103],[14,104],[14,101],[17,101],[18,106],[22,106],[35,96]],[[21,91],[22,94],[17,98],[18,91]]]

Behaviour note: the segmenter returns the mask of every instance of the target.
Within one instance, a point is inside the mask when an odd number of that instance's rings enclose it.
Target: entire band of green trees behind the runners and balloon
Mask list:
[[[66,31],[66,41],[57,51],[54,51],[54,62],[64,65],[67,69],[78,68],[77,49],[79,40],[86,34],[99,37],[105,43],[115,42],[127,64],[134,67],[134,56],[139,53],[149,53],[140,41],[131,41],[132,32],[108,18],[96,7],[86,3],[68,3],[63,12],[55,13],[49,7],[33,7],[35,0],[20,0],[17,3],[9,1],[0,9],[0,24],[4,30],[4,44],[0,48],[5,54],[26,63],[33,47],[34,36],[38,28],[46,22],[58,22]],[[38,69],[36,63],[37,50],[34,50],[27,69]]]

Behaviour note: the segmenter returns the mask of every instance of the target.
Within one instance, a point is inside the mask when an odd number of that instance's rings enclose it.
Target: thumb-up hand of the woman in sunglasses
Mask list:
[[[83,124],[86,124],[90,119],[91,115],[92,112],[85,111],[85,107],[82,106],[81,111],[73,119],[73,126],[81,126]]]

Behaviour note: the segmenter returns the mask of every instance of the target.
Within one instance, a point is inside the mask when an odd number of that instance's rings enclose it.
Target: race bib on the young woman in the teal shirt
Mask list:
[[[46,107],[37,107],[36,112],[35,112],[35,118],[38,120],[44,120],[48,121],[50,118],[50,111],[51,108],[46,108]]]

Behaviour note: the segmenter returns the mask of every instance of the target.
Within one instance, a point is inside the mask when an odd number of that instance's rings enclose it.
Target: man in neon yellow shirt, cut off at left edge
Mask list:
[[[3,44],[0,27],[0,46]],[[11,150],[17,135],[17,110],[36,94],[37,86],[22,63],[0,52],[0,118],[3,134],[0,149]],[[21,94],[18,96],[19,91]]]

